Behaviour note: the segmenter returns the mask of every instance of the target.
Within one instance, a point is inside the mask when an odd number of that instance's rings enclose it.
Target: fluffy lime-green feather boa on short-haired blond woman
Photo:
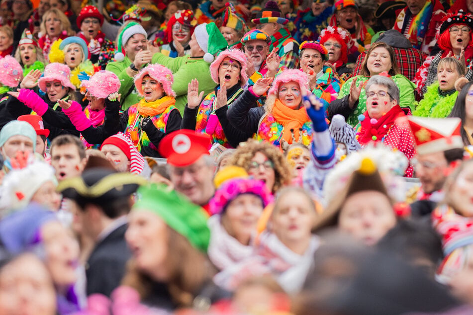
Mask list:
[[[438,81],[427,88],[424,99],[419,102],[412,115],[431,118],[445,118],[450,115],[457,100],[458,91],[447,96],[441,96],[438,88]]]

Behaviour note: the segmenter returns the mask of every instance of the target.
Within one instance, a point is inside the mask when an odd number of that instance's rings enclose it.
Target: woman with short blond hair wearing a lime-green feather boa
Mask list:
[[[455,105],[458,96],[455,81],[465,76],[465,65],[456,58],[446,57],[440,60],[437,69],[437,81],[427,87],[424,98],[412,113],[414,116],[445,118]]]

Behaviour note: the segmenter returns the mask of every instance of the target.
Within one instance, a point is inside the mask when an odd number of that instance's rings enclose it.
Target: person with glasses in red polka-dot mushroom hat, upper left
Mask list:
[[[81,29],[78,36],[86,41],[91,53],[90,60],[93,64],[98,62],[98,65],[105,69],[105,66],[113,58],[115,47],[113,42],[105,38],[105,34],[100,30],[102,24],[103,15],[93,5],[83,7],[77,17],[77,26]]]

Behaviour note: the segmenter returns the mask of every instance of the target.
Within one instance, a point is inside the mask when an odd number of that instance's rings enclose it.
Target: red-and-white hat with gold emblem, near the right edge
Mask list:
[[[460,118],[426,118],[408,116],[417,145],[417,154],[430,154],[450,149],[463,149]]]

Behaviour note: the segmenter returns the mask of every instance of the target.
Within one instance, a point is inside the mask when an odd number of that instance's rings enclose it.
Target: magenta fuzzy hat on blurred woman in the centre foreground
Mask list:
[[[261,198],[263,208],[273,202],[273,195],[261,180],[248,178],[234,178],[225,181],[210,199],[211,214],[219,214],[226,210],[228,204],[243,194],[253,194]]]

